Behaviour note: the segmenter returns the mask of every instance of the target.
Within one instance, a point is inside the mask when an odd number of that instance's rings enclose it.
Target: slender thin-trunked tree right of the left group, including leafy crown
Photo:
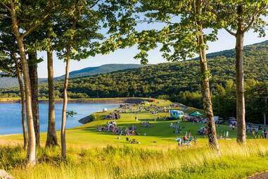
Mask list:
[[[94,56],[94,46],[98,46],[96,40],[102,39],[97,30],[99,29],[100,15],[94,10],[98,1],[68,1],[63,4],[58,27],[61,33],[58,35],[58,56],[66,63],[65,80],[63,83],[63,110],[61,136],[61,156],[66,158],[66,110],[68,104],[68,78],[70,71],[70,60]],[[89,48],[89,49],[87,49]],[[95,48],[95,47],[94,47]]]

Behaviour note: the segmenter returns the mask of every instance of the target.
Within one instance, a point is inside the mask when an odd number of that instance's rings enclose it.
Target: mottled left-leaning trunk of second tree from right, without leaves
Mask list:
[[[200,25],[200,35],[198,37],[198,45],[200,47],[204,46],[203,39],[203,29],[202,25]],[[203,94],[203,108],[205,111],[205,116],[208,118],[208,144],[210,147],[215,149],[219,154],[219,144],[217,142],[217,132],[216,125],[214,121],[213,109],[212,109],[212,101],[210,95],[210,72],[208,70],[208,62],[206,58],[206,50],[205,47],[200,49],[200,71],[201,71],[201,88]]]

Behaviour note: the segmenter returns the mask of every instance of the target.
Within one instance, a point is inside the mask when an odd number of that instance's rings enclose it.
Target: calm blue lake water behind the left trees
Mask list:
[[[57,130],[60,129],[61,125],[61,110],[62,104],[56,104],[55,115]],[[75,111],[77,114],[72,118],[67,118],[66,128],[73,128],[81,125],[78,120],[84,118],[91,113],[96,111],[102,111],[103,108],[113,109],[117,108],[119,104],[82,104],[82,103],[70,103],[68,104],[67,111]],[[21,113],[20,104],[0,104],[0,135],[15,134],[22,132],[21,125]],[[48,120],[48,104],[39,104],[39,115],[40,115],[40,130],[47,130]]]

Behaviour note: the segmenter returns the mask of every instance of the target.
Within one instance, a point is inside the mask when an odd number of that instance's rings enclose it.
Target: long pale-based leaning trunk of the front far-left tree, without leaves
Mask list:
[[[31,84],[29,77],[28,63],[26,59],[23,37],[20,35],[18,28],[18,21],[15,13],[15,4],[11,1],[11,20],[12,27],[15,37],[18,42],[18,47],[20,50],[20,59],[23,65],[23,78],[25,84],[25,104],[27,113],[27,128],[28,128],[28,146],[27,146],[27,166],[34,166],[36,163],[36,144],[34,135],[34,121],[32,117],[32,94],[31,94]]]

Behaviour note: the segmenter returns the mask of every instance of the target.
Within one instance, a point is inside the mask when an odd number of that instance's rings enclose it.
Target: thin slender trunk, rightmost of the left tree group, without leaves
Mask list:
[[[67,59],[66,59],[66,66],[65,66],[65,80],[63,85],[63,111],[62,111],[62,121],[61,121],[61,156],[63,159],[66,158],[66,109],[68,104],[68,79],[69,79],[69,70],[70,70],[70,45],[67,47]]]

